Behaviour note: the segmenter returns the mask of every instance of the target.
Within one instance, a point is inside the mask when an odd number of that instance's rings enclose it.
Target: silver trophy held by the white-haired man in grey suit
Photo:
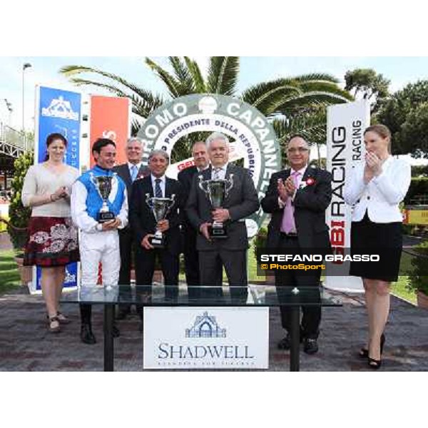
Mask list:
[[[199,188],[208,195],[213,210],[222,208],[225,198],[233,188],[233,174],[225,180],[203,180],[203,176],[199,175]],[[208,227],[208,234],[210,238],[228,238],[225,225],[220,221],[213,221],[213,225]]]

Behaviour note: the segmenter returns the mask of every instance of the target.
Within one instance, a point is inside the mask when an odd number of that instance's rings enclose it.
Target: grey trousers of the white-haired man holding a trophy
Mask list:
[[[209,292],[214,297],[223,296],[223,290],[218,280],[219,275],[223,272],[223,266],[229,281],[230,297],[237,302],[245,302],[248,295],[246,289],[248,285],[247,250],[199,252],[200,283],[212,286],[213,288]],[[207,290],[205,290],[205,294],[208,295]]]

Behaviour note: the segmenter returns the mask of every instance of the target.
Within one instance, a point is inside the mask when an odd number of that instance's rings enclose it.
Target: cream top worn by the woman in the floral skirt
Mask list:
[[[22,204],[24,207],[29,207],[33,196],[51,195],[61,186],[68,188],[68,192],[71,193],[71,185],[78,176],[78,170],[69,165],[66,165],[66,170],[60,174],[52,172],[43,163],[32,165],[24,178]],[[31,215],[33,217],[70,217],[70,200],[61,198],[55,202],[34,206]]]

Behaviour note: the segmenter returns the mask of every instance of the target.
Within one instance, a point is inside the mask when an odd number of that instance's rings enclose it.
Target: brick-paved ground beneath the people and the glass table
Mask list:
[[[308,356],[302,352],[301,370],[367,370],[356,356],[365,342],[365,308],[359,296],[339,295],[343,307],[323,309],[320,352]],[[103,313],[95,307],[93,316],[96,345],[83,345],[79,338],[76,305],[64,305],[71,318],[59,335],[46,330],[44,304],[24,288],[0,296],[0,371],[93,371],[103,369]],[[115,369],[143,370],[143,337],[136,316],[121,322],[121,337],[115,341]],[[428,370],[428,310],[392,298],[392,314],[386,330],[382,370]],[[276,350],[282,337],[279,310],[270,310],[270,371],[288,370],[287,352]],[[370,370],[370,369],[369,369]]]

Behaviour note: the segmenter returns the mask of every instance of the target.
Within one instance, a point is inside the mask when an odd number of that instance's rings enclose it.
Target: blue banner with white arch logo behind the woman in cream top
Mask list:
[[[81,136],[81,93],[36,86],[36,126],[34,136],[34,163],[44,162],[46,138],[61,133],[68,141],[64,161],[74,168],[80,167],[79,146]],[[41,290],[41,269],[36,268],[31,292]],[[66,266],[64,288],[77,287],[78,265]]]

